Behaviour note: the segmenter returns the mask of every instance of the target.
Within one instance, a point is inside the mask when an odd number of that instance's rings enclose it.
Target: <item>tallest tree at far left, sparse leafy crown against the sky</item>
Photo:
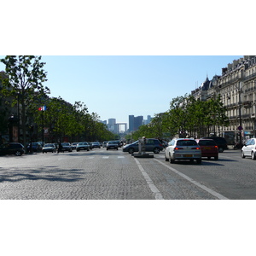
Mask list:
[[[44,87],[47,81],[47,72],[41,62],[41,56],[34,55],[8,55],[0,60],[5,64],[5,73],[8,79],[3,79],[3,93],[13,96],[13,104],[20,104],[20,121],[23,133],[23,144],[26,148],[27,115],[26,109],[40,96],[49,93]]]

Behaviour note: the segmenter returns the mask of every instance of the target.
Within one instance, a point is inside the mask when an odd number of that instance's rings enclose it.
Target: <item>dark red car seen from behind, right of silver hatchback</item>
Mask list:
[[[208,160],[214,157],[214,160],[218,160],[218,146],[212,139],[197,139],[195,141],[201,148],[202,157],[207,157]]]

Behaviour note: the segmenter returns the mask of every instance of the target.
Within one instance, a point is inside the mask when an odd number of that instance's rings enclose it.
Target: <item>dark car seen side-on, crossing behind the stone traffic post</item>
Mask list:
[[[134,152],[139,151],[139,142],[136,141],[131,144],[126,144],[123,147],[123,152],[128,152],[129,154],[133,154]],[[164,147],[160,143],[158,139],[148,138],[146,139],[146,152],[154,152],[154,154],[159,154]]]

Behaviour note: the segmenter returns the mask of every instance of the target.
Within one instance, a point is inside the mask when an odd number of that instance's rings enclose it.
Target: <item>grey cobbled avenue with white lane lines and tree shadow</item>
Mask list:
[[[153,154],[153,153],[152,153]],[[256,199],[256,160],[228,150],[201,165],[170,164],[164,152],[134,158],[95,148],[63,154],[0,157],[2,200]]]

